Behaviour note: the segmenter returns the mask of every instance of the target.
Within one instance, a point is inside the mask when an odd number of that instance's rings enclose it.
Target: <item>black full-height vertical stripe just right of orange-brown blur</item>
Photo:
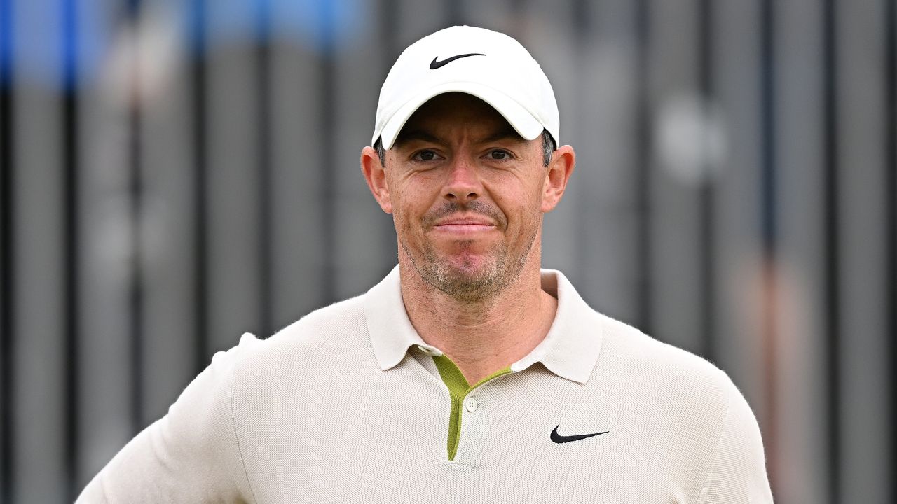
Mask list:
[[[840,472],[840,274],[838,253],[838,89],[835,38],[835,1],[823,1],[823,278],[825,325],[824,341],[828,391],[826,430],[828,431],[828,482],[832,502],[841,500]]]

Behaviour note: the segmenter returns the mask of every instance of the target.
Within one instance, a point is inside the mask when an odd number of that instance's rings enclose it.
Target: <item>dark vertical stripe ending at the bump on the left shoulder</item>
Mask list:
[[[258,129],[258,314],[262,337],[271,335],[274,326],[272,309],[272,143],[271,143],[271,2],[256,4],[256,104]]]

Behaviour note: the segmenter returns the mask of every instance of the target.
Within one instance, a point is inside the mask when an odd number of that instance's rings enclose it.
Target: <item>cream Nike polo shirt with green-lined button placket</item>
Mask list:
[[[244,335],[78,501],[772,501],[725,373],[598,314],[559,272],[542,282],[558,299],[548,335],[473,387],[414,331],[397,268],[265,341]]]

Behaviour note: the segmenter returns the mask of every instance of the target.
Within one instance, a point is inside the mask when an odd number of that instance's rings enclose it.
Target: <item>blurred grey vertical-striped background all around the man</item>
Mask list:
[[[777,502],[897,501],[895,11],[0,0],[0,501],[73,500],[213,352],[388,272],[359,152],[459,23],[529,48],[579,154],[544,265],[727,371]]]

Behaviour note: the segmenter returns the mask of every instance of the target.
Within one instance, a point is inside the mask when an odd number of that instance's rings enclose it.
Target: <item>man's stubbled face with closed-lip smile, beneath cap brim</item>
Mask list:
[[[539,260],[542,214],[551,209],[543,162],[541,138],[524,140],[482,100],[450,93],[428,101],[387,152],[400,254],[458,299],[503,291],[531,255]]]

